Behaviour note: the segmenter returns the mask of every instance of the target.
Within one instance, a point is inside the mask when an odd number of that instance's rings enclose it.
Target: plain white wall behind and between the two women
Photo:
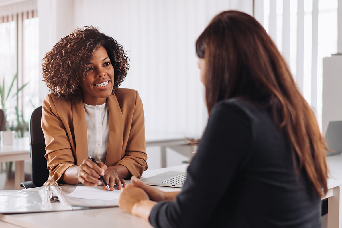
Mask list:
[[[194,44],[209,20],[228,9],[252,14],[252,1],[38,0],[40,57],[76,26],[96,26],[129,51],[121,87],[139,92],[146,132],[199,136],[207,112]]]

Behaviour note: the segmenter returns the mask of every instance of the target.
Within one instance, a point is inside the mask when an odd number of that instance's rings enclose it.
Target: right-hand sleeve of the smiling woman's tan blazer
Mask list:
[[[117,165],[124,165],[132,174],[132,176],[139,178],[147,169],[146,160],[147,154],[143,103],[138,92],[135,91],[135,105],[126,152],[124,157],[117,163]]]

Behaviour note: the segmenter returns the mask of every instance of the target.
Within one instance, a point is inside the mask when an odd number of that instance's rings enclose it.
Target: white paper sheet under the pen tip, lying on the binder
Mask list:
[[[91,200],[117,200],[121,190],[114,189],[114,191],[103,190],[103,186],[77,186],[75,190],[67,196],[81,199]]]

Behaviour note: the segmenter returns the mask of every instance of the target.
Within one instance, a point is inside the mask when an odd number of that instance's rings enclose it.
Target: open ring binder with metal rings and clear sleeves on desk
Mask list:
[[[43,187],[0,191],[0,213],[19,214],[52,211],[72,211],[117,207],[117,200],[89,200],[68,197],[76,185],[45,182]]]

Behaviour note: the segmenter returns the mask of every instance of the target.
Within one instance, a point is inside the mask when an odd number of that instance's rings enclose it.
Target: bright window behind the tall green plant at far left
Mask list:
[[[1,108],[6,111],[9,127],[14,129],[23,124],[22,115],[28,122],[34,108],[41,104],[38,98],[38,80],[41,78],[38,29],[37,10],[0,16],[0,84],[4,82],[4,98],[10,91],[5,107]],[[17,79],[11,87],[15,75]]]

